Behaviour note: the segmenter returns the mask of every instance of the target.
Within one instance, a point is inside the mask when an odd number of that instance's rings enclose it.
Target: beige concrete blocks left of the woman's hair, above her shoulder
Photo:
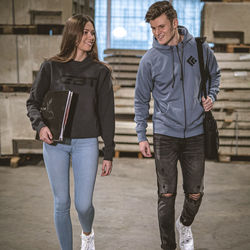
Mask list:
[[[20,83],[32,83],[44,58],[58,53],[61,35],[1,35],[0,83],[17,83],[16,37]]]

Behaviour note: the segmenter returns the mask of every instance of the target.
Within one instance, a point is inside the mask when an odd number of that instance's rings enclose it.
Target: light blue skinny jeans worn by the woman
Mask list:
[[[66,143],[43,143],[43,157],[54,196],[54,220],[62,250],[72,250],[70,218],[70,158],[74,174],[75,208],[84,232],[91,232],[93,191],[98,167],[97,138],[67,139]]]

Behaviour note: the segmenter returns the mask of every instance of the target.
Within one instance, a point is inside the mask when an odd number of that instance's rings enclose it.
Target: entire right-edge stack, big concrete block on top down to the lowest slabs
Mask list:
[[[250,155],[249,13],[249,0],[206,2],[202,11],[202,35],[214,44],[215,51],[229,52],[216,55],[222,69],[221,92],[215,104],[221,160]]]

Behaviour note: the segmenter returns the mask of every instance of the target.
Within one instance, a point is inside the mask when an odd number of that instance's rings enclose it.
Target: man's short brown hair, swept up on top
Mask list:
[[[145,21],[149,23],[151,20],[154,20],[162,14],[165,14],[167,16],[170,23],[172,23],[173,20],[177,18],[176,10],[170,2],[159,1],[155,2],[149,7],[148,12],[145,16]]]

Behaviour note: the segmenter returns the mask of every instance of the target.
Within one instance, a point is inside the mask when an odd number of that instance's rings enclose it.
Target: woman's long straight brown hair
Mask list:
[[[76,44],[81,41],[81,38],[83,36],[83,29],[87,22],[91,22],[95,29],[93,19],[87,15],[77,14],[70,17],[66,21],[66,24],[63,29],[60,52],[59,54],[51,57],[50,60],[57,62],[68,62],[75,58],[77,51]],[[99,62],[96,37],[91,51],[87,52],[87,54],[93,60]]]

